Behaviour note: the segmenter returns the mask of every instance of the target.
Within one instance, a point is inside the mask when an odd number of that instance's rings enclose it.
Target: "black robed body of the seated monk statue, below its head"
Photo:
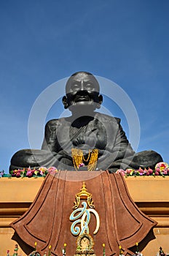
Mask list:
[[[58,170],[74,170],[71,148],[80,148],[87,156],[90,149],[98,149],[96,170],[128,167],[152,167],[162,162],[154,151],[135,154],[120,125],[120,119],[95,113],[93,117],[53,119],[47,122],[42,150],[18,151],[11,159],[9,170],[23,167],[55,166]]]

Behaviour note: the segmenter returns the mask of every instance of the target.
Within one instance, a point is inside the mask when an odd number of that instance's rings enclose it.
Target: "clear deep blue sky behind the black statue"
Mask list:
[[[125,90],[140,119],[138,151],[169,162],[168,12],[168,0],[0,1],[0,170],[30,147],[28,117],[39,94],[80,70]]]

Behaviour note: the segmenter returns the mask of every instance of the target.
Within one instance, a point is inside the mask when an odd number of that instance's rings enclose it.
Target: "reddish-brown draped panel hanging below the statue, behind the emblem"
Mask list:
[[[95,255],[103,254],[103,243],[109,256],[119,255],[119,245],[125,255],[133,255],[130,248],[136,243],[141,249],[141,241],[145,241],[157,222],[135,205],[127,191],[125,179],[120,174],[110,174],[108,171],[59,171],[55,176],[48,174],[34,203],[11,224],[21,238],[21,248],[25,244],[34,247],[36,241],[41,255],[50,245],[52,255],[60,255],[66,243],[66,255],[75,254],[77,236],[71,234],[72,222],[69,217],[75,195],[80,192],[83,181],[87,192],[92,194],[95,211],[100,217],[100,228],[95,235],[93,214],[88,224],[90,236],[95,242]],[[16,238],[14,240],[17,241]]]

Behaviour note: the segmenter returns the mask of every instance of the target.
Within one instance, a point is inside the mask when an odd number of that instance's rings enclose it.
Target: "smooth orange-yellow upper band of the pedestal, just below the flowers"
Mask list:
[[[0,178],[0,202],[32,203],[44,178]],[[130,196],[138,203],[169,202],[169,176],[125,178]]]

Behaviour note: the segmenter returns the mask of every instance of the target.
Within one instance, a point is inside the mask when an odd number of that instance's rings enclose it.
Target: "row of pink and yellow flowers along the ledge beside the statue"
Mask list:
[[[80,169],[79,169],[80,170]],[[17,177],[17,178],[23,178],[23,177],[45,177],[47,176],[47,173],[55,174],[58,173],[58,169],[54,166],[52,167],[39,167],[38,169],[34,168],[23,168],[23,169],[16,169],[12,170],[11,174],[5,174],[4,170],[0,172],[0,177]],[[128,176],[169,176],[169,165],[166,162],[159,162],[155,166],[154,170],[152,170],[150,167],[148,169],[142,169],[141,167],[138,170],[133,169],[126,169],[122,170],[119,169],[116,171],[116,173],[122,173],[122,176],[128,177]]]

